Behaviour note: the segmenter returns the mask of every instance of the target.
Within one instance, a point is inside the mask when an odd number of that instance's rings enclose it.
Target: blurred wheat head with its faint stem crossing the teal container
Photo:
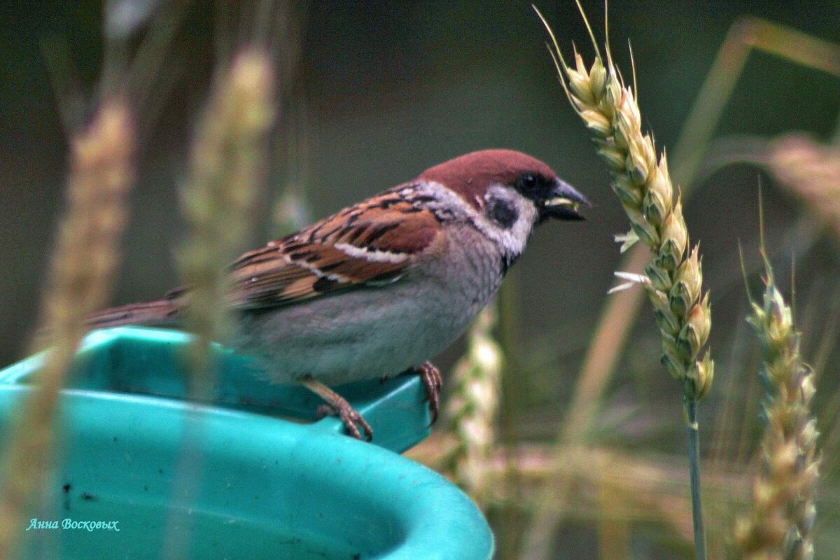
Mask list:
[[[274,122],[274,64],[256,47],[240,50],[215,76],[210,99],[190,151],[190,171],[181,189],[181,211],[189,227],[177,252],[184,285],[190,286],[185,327],[189,347],[189,395],[212,400],[217,375],[213,342],[225,342],[232,321],[225,295],[227,265],[241,250],[251,228],[252,210],[265,169],[266,139]],[[202,416],[190,416],[176,467],[165,538],[165,557],[182,557],[189,547],[186,496],[198,488],[202,471]],[[174,527],[181,527],[175,530]]]

